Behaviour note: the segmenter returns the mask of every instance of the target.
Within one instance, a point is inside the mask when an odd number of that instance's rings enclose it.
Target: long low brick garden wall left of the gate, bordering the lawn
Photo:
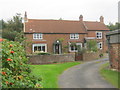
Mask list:
[[[55,62],[71,62],[75,61],[75,54],[63,55],[29,55],[30,64],[48,64]]]

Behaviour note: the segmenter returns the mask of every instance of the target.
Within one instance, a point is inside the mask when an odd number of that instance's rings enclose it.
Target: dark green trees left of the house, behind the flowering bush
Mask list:
[[[5,39],[14,41],[17,34],[23,31],[21,14],[17,13],[16,16],[13,16],[13,18],[7,22],[4,20],[0,22],[2,22],[2,37]]]

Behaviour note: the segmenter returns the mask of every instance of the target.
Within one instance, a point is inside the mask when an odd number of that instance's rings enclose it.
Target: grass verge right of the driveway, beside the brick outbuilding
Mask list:
[[[105,63],[104,65],[101,66],[101,69],[100,69],[101,75],[113,86],[115,86],[116,88],[120,88],[120,85],[119,85],[120,80],[118,80],[120,78],[120,72],[110,70],[107,68],[108,66],[109,66],[109,63]]]

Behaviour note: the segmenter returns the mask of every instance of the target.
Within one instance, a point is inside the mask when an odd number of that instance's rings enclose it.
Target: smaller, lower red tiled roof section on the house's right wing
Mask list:
[[[109,30],[104,23],[84,21],[87,30]]]

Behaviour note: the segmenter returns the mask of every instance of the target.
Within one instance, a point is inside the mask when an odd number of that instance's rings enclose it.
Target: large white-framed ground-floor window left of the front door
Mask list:
[[[35,51],[47,52],[47,45],[46,44],[33,44],[33,52]]]

